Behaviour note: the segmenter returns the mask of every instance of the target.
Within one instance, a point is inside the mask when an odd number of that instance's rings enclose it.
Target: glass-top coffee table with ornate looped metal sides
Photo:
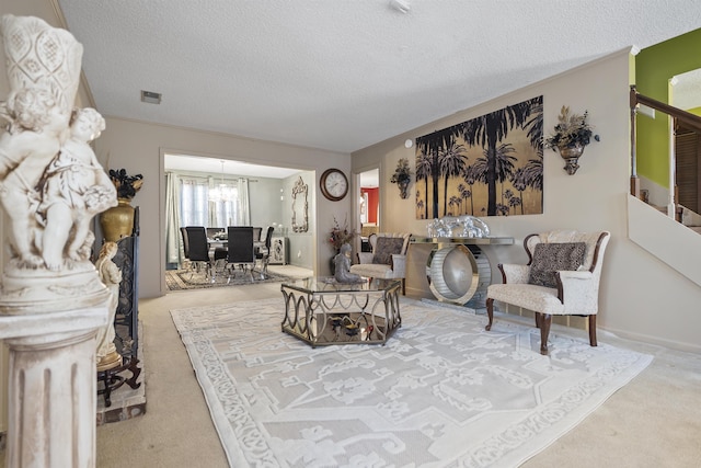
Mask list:
[[[402,324],[401,282],[337,283],[310,277],[283,283],[283,331],[312,347],[329,344],[384,344]]]

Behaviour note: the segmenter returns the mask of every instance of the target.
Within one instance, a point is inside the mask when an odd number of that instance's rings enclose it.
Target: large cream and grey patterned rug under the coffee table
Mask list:
[[[518,466],[652,356],[402,299],[381,345],[311,349],[283,298],[172,310],[231,466]]]

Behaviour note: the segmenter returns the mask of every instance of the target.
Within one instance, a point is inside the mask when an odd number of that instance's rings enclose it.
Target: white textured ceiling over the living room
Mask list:
[[[397,2],[58,0],[103,115],[342,152],[701,27],[699,0]]]

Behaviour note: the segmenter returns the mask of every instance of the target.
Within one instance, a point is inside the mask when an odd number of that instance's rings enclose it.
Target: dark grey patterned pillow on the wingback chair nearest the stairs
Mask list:
[[[577,270],[584,262],[585,251],[586,243],[584,242],[543,242],[537,244],[528,274],[528,283],[558,287],[555,272]]]

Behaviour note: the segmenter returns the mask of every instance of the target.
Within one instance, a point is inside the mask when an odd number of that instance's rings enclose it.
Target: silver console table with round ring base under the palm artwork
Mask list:
[[[438,300],[484,308],[492,267],[480,247],[510,246],[514,238],[414,238],[412,243],[435,244],[426,262],[426,277]]]

